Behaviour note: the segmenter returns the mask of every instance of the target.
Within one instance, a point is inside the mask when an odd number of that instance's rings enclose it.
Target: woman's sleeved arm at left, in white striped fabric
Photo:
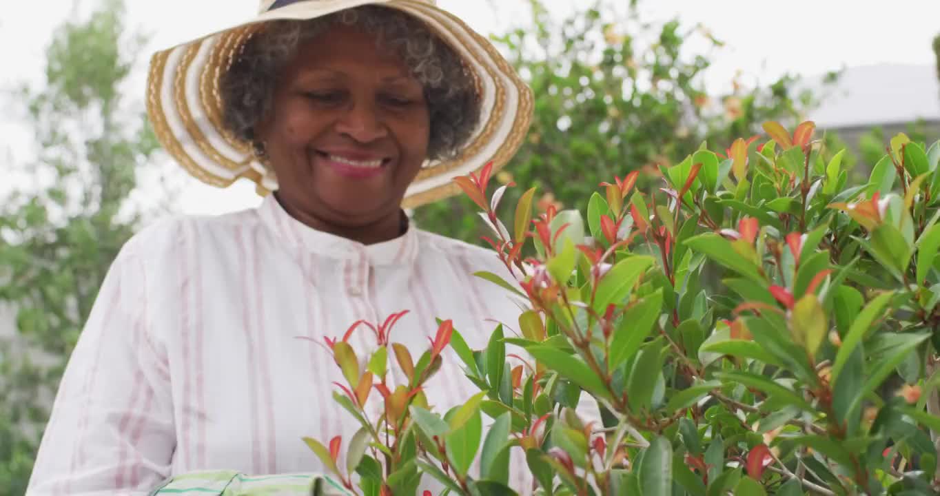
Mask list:
[[[71,354],[28,495],[149,494],[169,474],[170,379],[148,308],[147,274],[132,240]]]

